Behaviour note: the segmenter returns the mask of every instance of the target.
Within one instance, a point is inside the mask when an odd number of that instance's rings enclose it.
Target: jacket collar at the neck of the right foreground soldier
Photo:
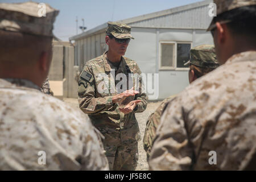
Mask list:
[[[231,56],[226,61],[225,64],[242,62],[242,61],[256,61],[255,57],[256,57],[256,51],[241,52]]]

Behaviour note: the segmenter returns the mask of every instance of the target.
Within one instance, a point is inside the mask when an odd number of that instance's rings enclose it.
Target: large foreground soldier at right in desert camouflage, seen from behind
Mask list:
[[[208,30],[222,65],[168,103],[150,169],[256,169],[256,1],[214,3]]]

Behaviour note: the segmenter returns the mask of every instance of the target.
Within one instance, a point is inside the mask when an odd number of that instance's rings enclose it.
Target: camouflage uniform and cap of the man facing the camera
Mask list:
[[[126,27],[123,24],[122,26]],[[126,30],[129,30],[128,28]],[[123,37],[131,38],[129,31],[127,31],[129,35],[126,35],[126,32],[123,34]],[[117,36],[120,38],[121,35],[118,34]],[[137,86],[140,93],[127,97],[124,102],[129,103],[132,100],[141,100],[142,102],[137,104],[137,110],[129,114],[119,111],[118,105],[112,104],[112,97],[121,93],[115,89],[119,81],[113,77],[118,73],[125,74],[127,89],[131,89],[135,82],[134,80],[133,84],[129,86],[129,73],[141,75],[138,64],[127,57],[122,56],[118,68],[108,61],[106,52],[88,61],[84,65],[80,76],[78,87],[79,106],[84,113],[89,115],[93,125],[105,137],[104,148],[109,160],[109,168],[113,170],[134,170],[138,160],[138,141],[141,139],[135,113],[140,113],[146,109],[147,96],[146,93],[143,93],[142,80],[139,78]],[[108,75],[106,79],[109,83],[106,83],[104,87],[105,93],[100,93],[99,88],[102,88],[101,84],[104,81],[103,74]],[[112,90],[114,90],[113,93]],[[123,163],[124,159],[126,160],[125,163]]]

